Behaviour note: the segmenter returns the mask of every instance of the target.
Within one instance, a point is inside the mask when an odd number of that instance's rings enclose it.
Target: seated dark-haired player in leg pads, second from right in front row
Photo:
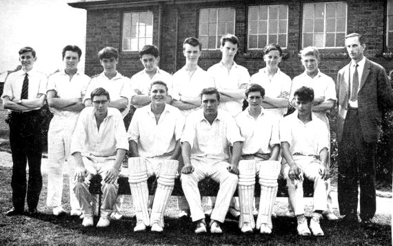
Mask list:
[[[245,139],[239,163],[239,228],[243,233],[252,233],[255,228],[252,214],[255,175],[259,175],[261,202],[256,220],[256,229],[261,234],[272,233],[272,210],[278,189],[277,178],[280,163],[279,124],[274,114],[261,107],[265,90],[252,84],[245,90],[248,107],[236,116],[240,134]]]

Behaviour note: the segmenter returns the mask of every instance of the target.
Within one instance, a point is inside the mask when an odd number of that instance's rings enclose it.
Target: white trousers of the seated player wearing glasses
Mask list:
[[[93,196],[89,192],[89,185],[92,176],[99,174],[101,178],[105,178],[106,173],[110,170],[115,161],[116,156],[97,157],[97,156],[82,156],[83,164],[85,165],[88,175],[85,177],[84,182],[75,181],[74,192],[79,201],[81,210],[85,216],[92,216],[92,201]],[[100,207],[101,217],[108,218],[112,213],[114,203],[117,199],[117,190],[119,185],[117,180],[114,183],[105,183],[101,181],[102,204]]]

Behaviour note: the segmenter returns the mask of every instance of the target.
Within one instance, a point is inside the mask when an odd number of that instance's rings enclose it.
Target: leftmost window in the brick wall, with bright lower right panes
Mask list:
[[[153,43],[153,12],[123,14],[123,50],[141,50]]]

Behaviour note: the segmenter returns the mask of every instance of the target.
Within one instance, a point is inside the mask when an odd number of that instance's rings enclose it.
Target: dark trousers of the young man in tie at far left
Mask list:
[[[42,188],[41,176],[41,114],[39,110],[12,112],[10,147],[12,152],[12,203],[15,209],[24,209],[27,189],[28,208],[37,208]],[[26,164],[29,178],[26,185]],[[26,187],[27,186],[27,187]]]

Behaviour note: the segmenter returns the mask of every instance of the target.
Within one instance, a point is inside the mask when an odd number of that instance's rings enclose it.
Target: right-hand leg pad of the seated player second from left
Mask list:
[[[157,180],[157,190],[154,194],[150,225],[159,223],[161,227],[164,227],[163,215],[170,195],[172,194],[178,165],[179,162],[176,160],[165,160],[161,165]]]

